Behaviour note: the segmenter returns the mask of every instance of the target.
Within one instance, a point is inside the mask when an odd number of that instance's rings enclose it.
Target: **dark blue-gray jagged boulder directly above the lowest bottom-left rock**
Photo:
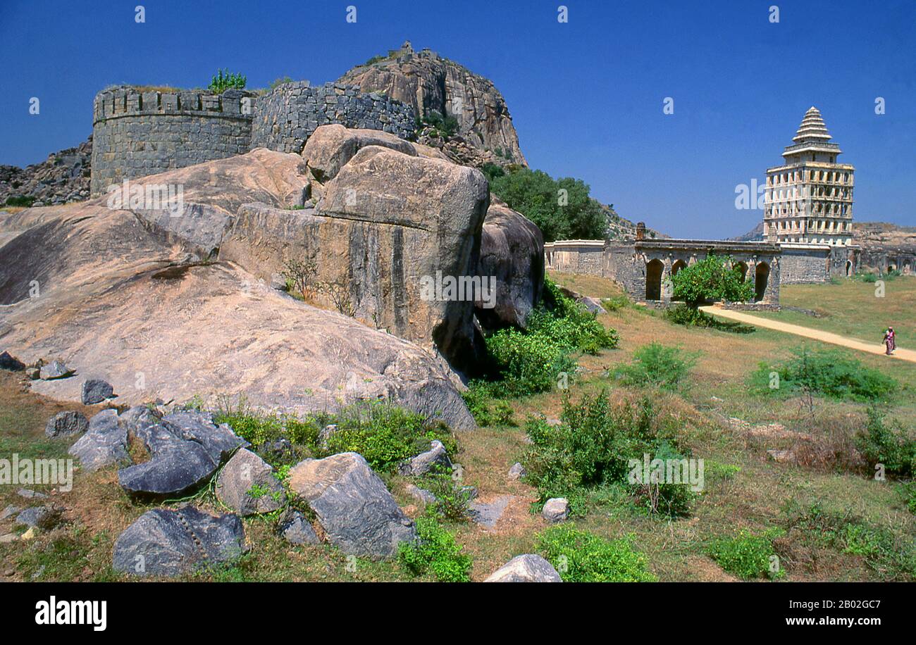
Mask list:
[[[228,425],[207,413],[178,412],[138,419],[131,434],[149,451],[147,461],[118,471],[118,483],[136,499],[178,498],[213,477],[233,451],[245,446]]]

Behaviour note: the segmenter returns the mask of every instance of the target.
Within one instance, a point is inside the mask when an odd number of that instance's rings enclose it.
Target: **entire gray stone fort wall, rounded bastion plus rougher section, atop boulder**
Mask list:
[[[408,138],[413,108],[355,86],[308,81],[256,92],[143,91],[122,85],[93,102],[93,196],[125,179],[241,155],[255,147],[299,154],[324,124]]]

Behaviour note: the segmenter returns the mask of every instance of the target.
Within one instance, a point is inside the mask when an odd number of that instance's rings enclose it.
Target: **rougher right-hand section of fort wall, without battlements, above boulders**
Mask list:
[[[407,139],[414,134],[413,108],[353,85],[309,81],[284,83],[257,101],[251,146],[300,154],[319,125],[382,130]]]

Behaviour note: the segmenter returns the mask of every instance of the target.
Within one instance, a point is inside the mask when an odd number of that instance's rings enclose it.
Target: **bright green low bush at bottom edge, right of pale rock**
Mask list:
[[[655,582],[646,556],[629,540],[605,540],[573,526],[552,526],[538,536],[538,550],[564,582]]]

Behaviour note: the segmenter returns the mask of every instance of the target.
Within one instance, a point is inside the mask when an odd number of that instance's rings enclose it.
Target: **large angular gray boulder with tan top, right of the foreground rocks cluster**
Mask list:
[[[361,455],[306,459],[289,471],[289,488],[309,502],[328,540],[346,554],[374,559],[414,542],[413,522]]]

